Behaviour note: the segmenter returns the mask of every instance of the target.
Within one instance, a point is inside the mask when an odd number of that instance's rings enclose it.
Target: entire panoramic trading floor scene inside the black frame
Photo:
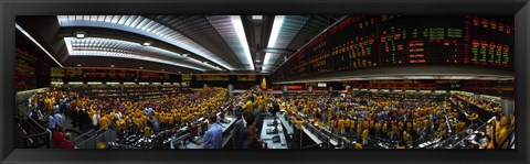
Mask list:
[[[512,15],[17,15],[24,149],[513,149]]]

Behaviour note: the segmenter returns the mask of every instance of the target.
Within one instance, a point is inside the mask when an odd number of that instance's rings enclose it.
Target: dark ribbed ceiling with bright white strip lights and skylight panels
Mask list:
[[[56,15],[17,17],[17,24],[63,67],[271,74],[341,18]]]

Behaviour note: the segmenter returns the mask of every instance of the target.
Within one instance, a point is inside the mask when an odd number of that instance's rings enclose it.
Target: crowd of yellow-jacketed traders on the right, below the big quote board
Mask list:
[[[283,103],[288,112],[299,112],[333,132],[359,139],[356,147],[368,144],[368,139],[394,142],[396,147],[415,140],[447,139],[459,133],[468,124],[458,119],[451,102],[404,102],[368,97],[295,97]],[[449,125],[448,125],[449,124]]]

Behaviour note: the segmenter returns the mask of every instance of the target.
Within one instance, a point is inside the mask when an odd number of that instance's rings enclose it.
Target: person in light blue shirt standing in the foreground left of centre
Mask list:
[[[222,149],[223,147],[223,130],[221,125],[216,123],[218,116],[215,113],[211,113],[208,118],[208,123],[210,128],[208,129],[206,133],[202,139],[202,147],[203,149]]]

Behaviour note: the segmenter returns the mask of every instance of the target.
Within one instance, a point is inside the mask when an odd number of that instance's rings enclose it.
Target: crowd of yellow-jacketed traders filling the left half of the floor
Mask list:
[[[74,91],[51,88],[29,97],[30,117],[47,121],[52,131],[64,133],[64,128],[81,131],[116,129],[119,134],[149,135],[218,111],[224,102],[226,89],[203,88],[194,94],[165,97],[156,100],[120,101],[89,99]],[[47,117],[46,117],[47,116]],[[72,120],[65,127],[63,116]],[[57,141],[55,141],[57,139]],[[60,138],[54,138],[59,142]],[[64,139],[64,138],[62,138]]]

